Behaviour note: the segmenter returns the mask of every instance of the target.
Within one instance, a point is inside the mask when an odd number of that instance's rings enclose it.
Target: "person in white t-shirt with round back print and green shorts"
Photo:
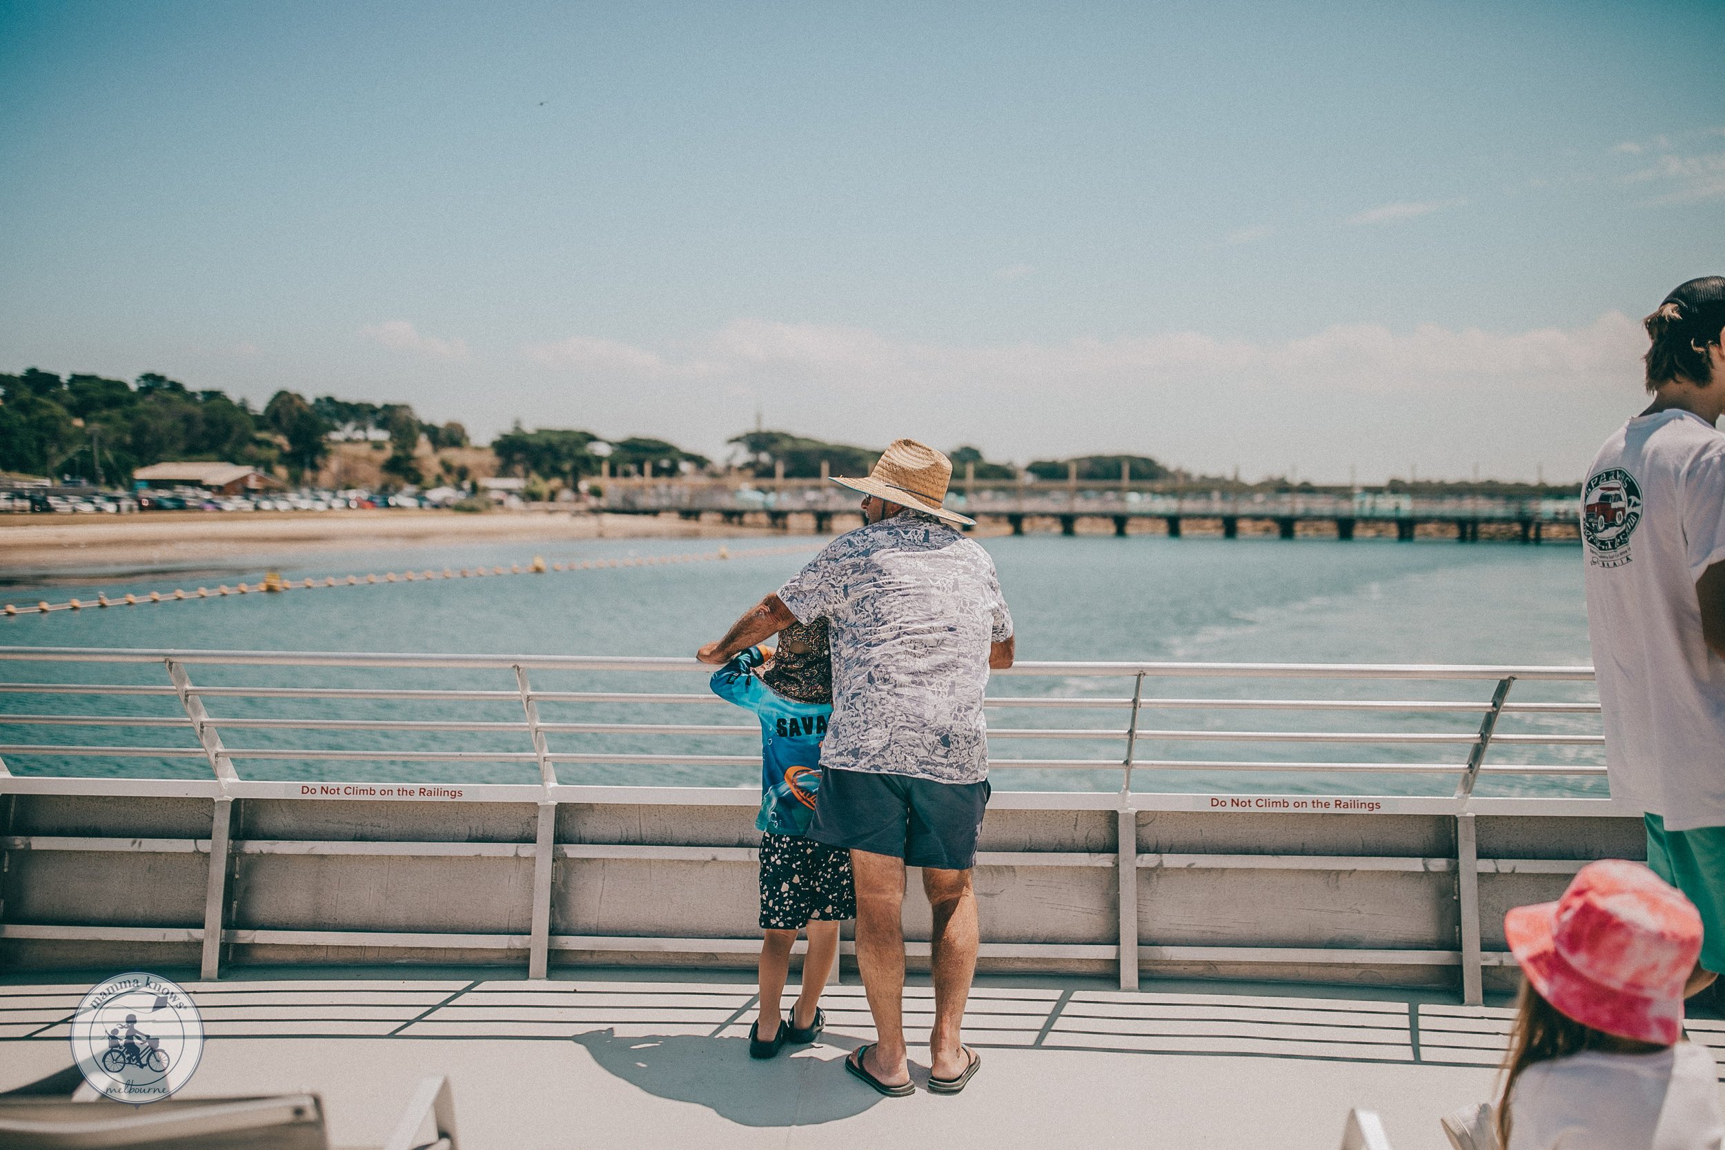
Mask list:
[[[1725,278],[1644,326],[1653,403],[1582,488],[1587,624],[1611,795],[1644,812],[1647,866],[1706,928],[1692,995],[1725,971]]]

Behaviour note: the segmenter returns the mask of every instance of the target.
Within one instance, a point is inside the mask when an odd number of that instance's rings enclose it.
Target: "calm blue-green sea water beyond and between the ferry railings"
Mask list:
[[[543,576],[247,595],[212,602],[21,616],[0,621],[0,643],[55,647],[193,647],[342,652],[474,652],[581,655],[688,655],[716,638],[738,612],[778,586],[807,552],[752,555],[795,540],[593,540],[545,545],[440,547],[388,552],[319,552],[285,555],[276,567],[288,578],[381,571],[674,555],[724,545],[733,559],[683,566],[607,567]],[[1582,564],[1573,547],[1394,543],[1359,540],[1168,540],[1161,536],[1023,536],[990,538],[1000,583],[1018,621],[1021,659],[1156,659],[1208,662],[1589,662],[1582,602]],[[52,586],[0,586],[0,600],[91,598],[126,591],[254,581],[260,567],[183,571],[131,579],[55,579]],[[314,686],[485,686],[512,690],[507,672],[342,672],[307,669],[195,667],[200,683]],[[10,664],[3,678],[104,683],[162,683],[160,667],[91,664]],[[386,681],[385,681],[386,679]],[[542,690],[699,691],[699,676],[580,676],[535,672]],[[1484,707],[1490,683],[1354,683],[1354,681],[1214,681],[1149,679],[1152,703],[1142,726],[1166,729],[1352,729],[1471,731],[1478,716],[1413,712],[1266,712],[1157,705],[1157,698],[1451,698]],[[1087,678],[999,678],[995,695],[1126,697],[1132,683]],[[1590,686],[1518,684],[1513,698],[1592,698]],[[71,712],[88,700],[55,695],[0,695],[0,741],[126,743],[191,747],[188,736],[155,728],[45,728],[7,724],[3,714]],[[167,698],[110,698],[107,714],[174,717]],[[436,703],[404,710],[397,703],[335,700],[212,700],[231,717],[371,717],[371,719],[521,719],[519,703]],[[547,721],[562,722],[747,722],[723,705],[659,707],[650,714],[626,703],[550,703]],[[1002,709],[1002,728],[1125,726],[1121,712]],[[1525,716],[1502,731],[1590,733],[1597,719]],[[523,738],[495,733],[392,734],[233,731],[231,747],[348,747],[435,750],[524,750]],[[747,753],[733,736],[552,734],[552,750],[593,753]],[[1118,740],[997,738],[995,784],[1023,790],[1116,790],[1118,771],[1056,771],[1004,766],[1009,759],[1118,759]],[[1339,747],[1259,741],[1187,741],[1145,738],[1140,759],[1271,762],[1454,762],[1466,747]],[[1596,748],[1502,747],[1492,762],[1597,762]],[[14,772],[102,772],[195,776],[195,759],[48,759],[9,755]],[[533,764],[505,762],[340,762],[307,757],[238,760],[248,778],[340,778],[424,781],[536,781]],[[752,779],[743,767],[562,764],[574,783],[704,783]],[[1449,793],[1454,778],[1397,774],[1216,772],[1138,769],[1137,790],[1275,790],[1299,793]],[[1603,793],[1601,781],[1559,778],[1485,779],[1482,793]]]

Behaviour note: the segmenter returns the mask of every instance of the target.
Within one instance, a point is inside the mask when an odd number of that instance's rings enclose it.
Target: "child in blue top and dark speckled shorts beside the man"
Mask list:
[[[838,959],[838,922],[857,912],[850,852],[804,838],[814,821],[821,738],[833,712],[826,621],[785,628],[776,652],[742,652],[714,672],[712,691],[761,717],[761,1014],[749,1029],[749,1057],[771,1059],[785,1043],[819,1036],[826,1024],[821,990]],[[778,1010],[790,948],[804,928],[802,993],[783,1021]]]

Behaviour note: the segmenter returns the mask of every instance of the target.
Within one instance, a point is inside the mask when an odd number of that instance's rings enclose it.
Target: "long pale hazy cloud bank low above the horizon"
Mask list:
[[[1640,326],[1608,312],[1508,333],[1335,324],[1294,340],[1000,345],[738,319],[674,353],[585,336],[526,353],[549,371],[542,424],[645,429],[709,453],[761,407],[771,426],[850,443],[911,434],[1021,462],[1135,450],[1213,474],[1297,457],[1302,474],[1358,464],[1370,479],[1399,474],[1409,445],[1433,474],[1451,457],[1456,476],[1475,460],[1525,478],[1540,460],[1551,476],[1580,467],[1642,402],[1644,350]]]

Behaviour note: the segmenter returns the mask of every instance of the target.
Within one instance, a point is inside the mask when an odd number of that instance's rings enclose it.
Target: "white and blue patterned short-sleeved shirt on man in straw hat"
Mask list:
[[[1013,636],[988,552],[940,519],[902,512],[828,543],[778,597],[799,622],[828,617],[823,764],[937,783],[988,778],[988,645]]]

